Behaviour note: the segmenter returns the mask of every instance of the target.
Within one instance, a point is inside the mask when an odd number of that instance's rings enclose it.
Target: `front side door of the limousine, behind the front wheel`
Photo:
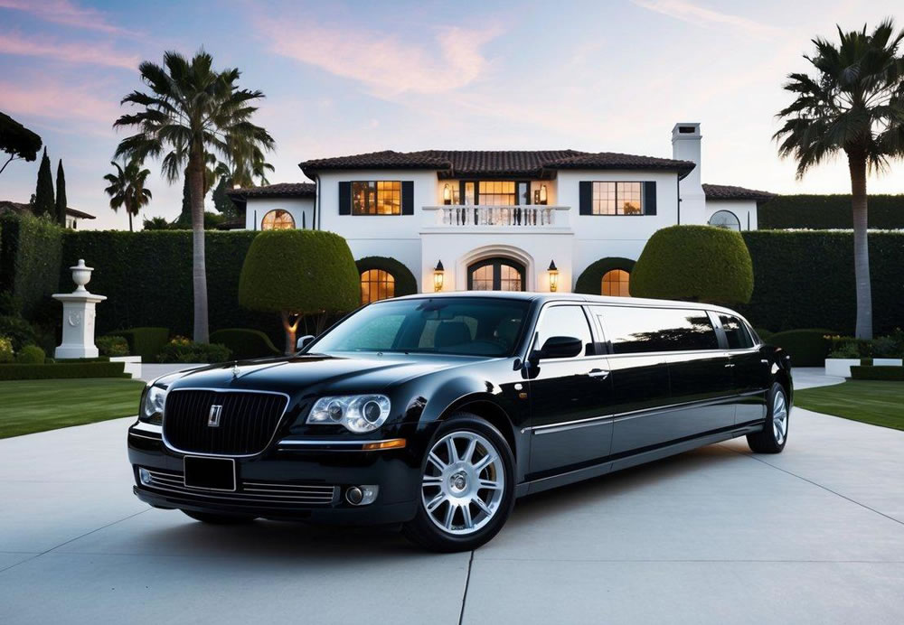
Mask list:
[[[543,308],[532,350],[555,336],[578,338],[583,347],[573,358],[540,359],[528,367],[530,467],[537,477],[601,460],[612,441],[608,362],[597,353],[583,306],[551,303]]]

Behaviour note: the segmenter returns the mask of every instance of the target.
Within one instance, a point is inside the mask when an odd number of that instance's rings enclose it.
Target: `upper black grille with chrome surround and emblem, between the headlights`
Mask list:
[[[263,452],[288,399],[277,393],[175,389],[166,397],[164,437],[175,449],[195,453],[250,455]],[[212,406],[217,425],[209,424]]]

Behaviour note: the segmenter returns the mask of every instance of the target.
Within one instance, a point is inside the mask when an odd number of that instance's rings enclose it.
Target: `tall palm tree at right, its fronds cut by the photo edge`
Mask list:
[[[854,277],[857,289],[856,335],[872,338],[872,295],[867,240],[866,174],[884,172],[890,158],[904,155],[904,32],[895,34],[891,19],[872,33],[843,33],[836,46],[813,40],[816,53],[806,56],[815,76],[788,75],[785,89],[795,101],[778,113],[784,126],[774,138],[778,153],[797,162],[797,179],[841,151],[851,173]]]

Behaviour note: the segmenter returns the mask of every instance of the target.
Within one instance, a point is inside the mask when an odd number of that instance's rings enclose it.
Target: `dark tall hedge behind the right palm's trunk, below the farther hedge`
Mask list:
[[[754,327],[833,328],[852,333],[857,316],[850,232],[745,232],[756,275],[748,304]],[[904,233],[870,233],[875,334],[904,327]]]

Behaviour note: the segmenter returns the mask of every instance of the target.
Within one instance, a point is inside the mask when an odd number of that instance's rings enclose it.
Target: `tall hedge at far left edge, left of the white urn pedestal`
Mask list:
[[[0,216],[0,292],[12,293],[22,313],[33,317],[46,310],[60,285],[63,229],[50,219],[28,213]],[[75,258],[67,267],[75,265]],[[75,288],[69,273],[66,291]]]

